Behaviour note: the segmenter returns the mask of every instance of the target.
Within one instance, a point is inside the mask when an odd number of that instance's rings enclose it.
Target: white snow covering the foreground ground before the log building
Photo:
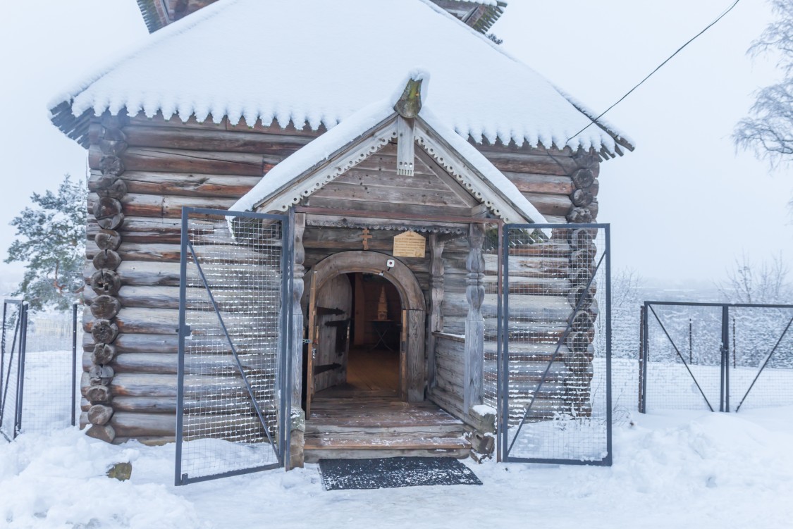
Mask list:
[[[0,526],[791,527],[793,407],[633,421],[611,468],[467,460],[484,485],[333,492],[316,465],[174,487],[173,445],[29,433],[0,443]]]

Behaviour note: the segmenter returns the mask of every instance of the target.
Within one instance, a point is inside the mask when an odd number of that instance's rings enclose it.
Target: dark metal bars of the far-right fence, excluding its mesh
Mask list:
[[[639,386],[639,413],[647,413],[647,365],[649,363],[649,314],[652,313],[655,320],[658,322],[658,325],[661,325],[661,330],[664,331],[667,340],[670,344],[672,344],[672,348],[675,349],[676,355],[680,358],[683,362],[686,371],[688,371],[688,375],[691,376],[691,380],[694,381],[699,393],[702,395],[705,404],[707,405],[708,409],[711,412],[716,411],[714,406],[711,405],[711,402],[707,400],[707,396],[703,391],[702,387],[699,386],[699,381],[694,376],[694,373],[691,372],[691,368],[688,367],[688,363],[684,356],[680,353],[680,348],[677,347],[675,341],[672,340],[672,337],[669,336],[666,327],[661,322],[661,318],[658,318],[658,314],[656,314],[655,310],[653,310],[653,306],[712,306],[712,307],[722,307],[722,343],[719,347],[720,352],[720,360],[721,365],[719,366],[720,369],[720,390],[719,390],[719,402],[718,402],[718,411],[730,413],[730,307],[734,308],[752,308],[752,309],[793,309],[793,305],[780,305],[780,304],[769,304],[765,305],[762,303],[698,303],[698,302],[676,302],[676,301],[646,301],[644,306],[642,306],[642,341],[641,347],[642,351],[639,355],[641,360],[641,384]],[[782,331],[780,335],[780,339],[776,341],[774,347],[771,349],[771,352],[768,353],[768,356],[765,357],[763,364],[760,366],[760,369],[757,371],[757,375],[755,375],[752,383],[749,384],[749,388],[746,390],[746,393],[741,398],[741,402],[735,408],[735,413],[741,409],[741,405],[743,405],[746,398],[749,396],[749,393],[752,392],[752,388],[754,387],[755,382],[757,379],[760,378],[760,375],[764,371],[765,367],[768,365],[768,361],[771,360],[771,357],[774,356],[776,352],[776,348],[780,346],[782,343],[782,339],[787,334],[788,329],[791,328],[791,324],[793,324],[793,317],[791,317],[790,321],[787,322],[785,329]]]

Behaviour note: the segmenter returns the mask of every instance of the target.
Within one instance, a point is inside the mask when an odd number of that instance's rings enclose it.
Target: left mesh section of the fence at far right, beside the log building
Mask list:
[[[720,408],[722,316],[715,305],[646,304],[642,411]]]

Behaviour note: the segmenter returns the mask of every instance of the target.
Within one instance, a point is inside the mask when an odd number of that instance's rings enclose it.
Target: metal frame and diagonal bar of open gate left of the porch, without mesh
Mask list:
[[[248,382],[247,375],[239,361],[236,353],[236,348],[232,338],[228,334],[228,329],[224,324],[223,318],[218,310],[217,303],[214,299],[213,293],[209,285],[206,283],[206,278],[201,265],[198,261],[197,254],[190,242],[190,226],[189,220],[191,214],[197,215],[217,215],[226,218],[243,217],[247,219],[271,219],[277,220],[282,226],[282,309],[281,309],[281,325],[282,333],[278,337],[278,347],[282,349],[283,354],[279,359],[278,365],[278,380],[280,385],[281,402],[278,405],[278,414],[280,426],[278,428],[278,444],[272,442],[270,432],[268,432],[262,411],[259,408],[259,402],[253,395],[250,382]],[[177,411],[176,411],[176,459],[174,469],[174,484],[175,485],[188,485],[198,481],[209,481],[220,478],[230,478],[241,474],[251,474],[262,470],[271,470],[283,467],[289,462],[289,439],[287,439],[287,432],[291,425],[290,413],[292,407],[292,351],[290,350],[292,340],[292,292],[293,292],[293,261],[294,261],[294,242],[293,242],[293,226],[294,226],[294,210],[289,210],[289,215],[271,215],[265,213],[255,213],[251,211],[228,211],[216,210],[205,207],[182,207],[182,235],[181,235],[181,249],[179,260],[179,323],[178,323],[178,386],[177,386]],[[231,470],[220,474],[212,474],[209,476],[200,476],[198,478],[190,478],[186,474],[182,474],[182,443],[183,443],[183,427],[184,427],[184,394],[185,394],[185,340],[190,337],[190,326],[186,325],[186,277],[187,277],[187,254],[193,256],[193,263],[201,276],[201,282],[209,295],[209,299],[213,304],[215,314],[219,320],[228,344],[232,349],[236,366],[239,369],[239,374],[242,376],[243,383],[246,386],[248,394],[251,396],[256,414],[259,421],[262,422],[264,432],[267,439],[270,440],[270,446],[273,447],[274,454],[278,462],[265,465],[256,466],[242,470]]]

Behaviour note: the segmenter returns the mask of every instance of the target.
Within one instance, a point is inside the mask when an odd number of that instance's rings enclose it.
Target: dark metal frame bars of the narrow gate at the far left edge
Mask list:
[[[11,350],[6,353],[6,322],[8,318],[8,307],[16,305],[17,322],[14,324],[13,339]],[[28,328],[28,304],[21,299],[6,299],[2,307],[2,344],[0,344],[0,434],[7,441],[13,441],[19,435],[22,428],[22,396],[25,390],[25,339]],[[18,339],[18,345],[17,345]],[[17,369],[11,372],[14,353],[17,355]],[[8,369],[6,369],[6,356]],[[12,379],[17,380],[16,390],[12,395],[8,394],[9,385]],[[5,417],[6,403],[9,398],[13,398],[13,421],[11,422],[10,437],[4,431],[9,425],[9,417]]]

